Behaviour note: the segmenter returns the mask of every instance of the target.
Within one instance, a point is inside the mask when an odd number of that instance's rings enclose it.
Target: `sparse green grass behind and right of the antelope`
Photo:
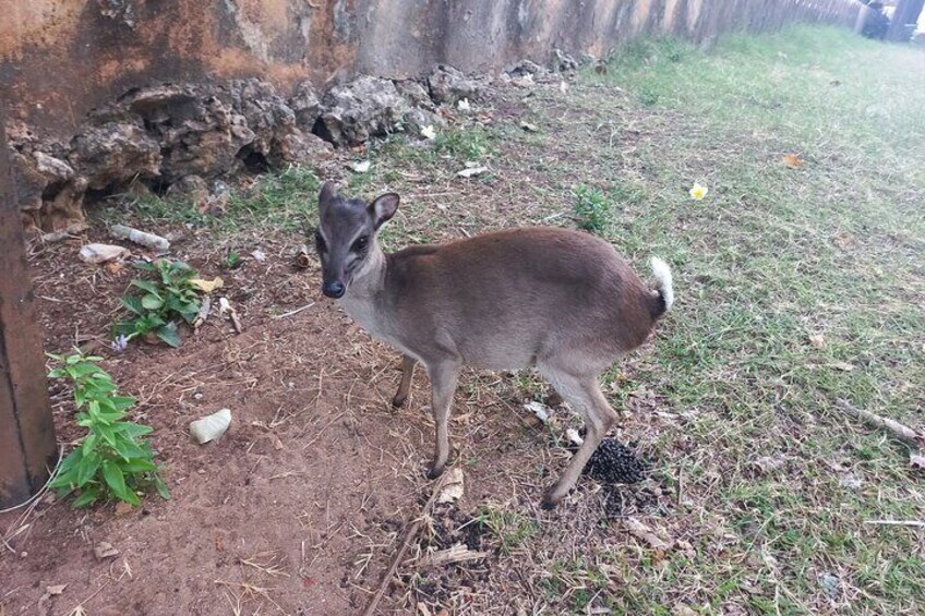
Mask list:
[[[923,426],[923,74],[921,49],[834,28],[729,36],[710,52],[647,40],[565,93],[533,90],[524,113],[539,133],[510,119],[464,123],[430,145],[371,145],[372,168],[349,189],[403,194],[384,230],[388,249],[516,225],[582,226],[646,277],[653,254],[675,275],[675,310],[650,350],[605,376],[605,391],[638,410],[622,436],[651,452],[652,476],[672,493],[651,522],[693,549],[654,554],[618,521],[582,520],[587,508],[549,519],[483,507],[479,523],[502,554],[493,566],[517,571],[507,590],[489,592],[539,590],[549,613],[921,611],[922,531],[864,522],[925,519],[925,482],[903,446],[836,400]],[[784,154],[805,165],[788,168]],[[491,171],[458,179],[467,161]],[[688,196],[695,182],[709,188],[704,201]],[[217,229],[287,229],[311,218],[316,188],[307,171],[271,174],[208,221],[163,203],[135,209]],[[524,391],[541,390],[528,381]],[[478,397],[498,382],[479,384]],[[640,390],[654,409],[638,407]],[[756,473],[760,456],[786,463]],[[545,462],[525,457],[524,468]],[[861,487],[841,484],[849,471]],[[538,496],[546,480],[534,481]],[[837,596],[826,575],[838,578]],[[541,582],[510,585],[519,579]]]

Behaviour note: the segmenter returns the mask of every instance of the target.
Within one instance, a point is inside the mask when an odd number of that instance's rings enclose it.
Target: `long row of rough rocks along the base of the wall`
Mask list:
[[[574,65],[562,53],[553,59],[554,71]],[[548,75],[525,60],[503,76],[532,83]],[[20,206],[26,228],[43,231],[82,222],[85,202],[137,188],[182,195],[207,210],[214,186],[242,171],[317,165],[334,146],[397,131],[432,136],[446,123],[440,106],[476,101],[489,83],[441,64],[420,82],[362,75],[323,96],[304,82],[284,98],[256,78],[134,88],[92,111],[67,143],[8,124]]]

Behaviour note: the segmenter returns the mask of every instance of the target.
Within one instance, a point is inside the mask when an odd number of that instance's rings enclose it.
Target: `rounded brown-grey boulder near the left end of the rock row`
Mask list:
[[[72,145],[69,161],[86,176],[91,189],[160,176],[160,144],[136,124],[92,126],[75,136]]]

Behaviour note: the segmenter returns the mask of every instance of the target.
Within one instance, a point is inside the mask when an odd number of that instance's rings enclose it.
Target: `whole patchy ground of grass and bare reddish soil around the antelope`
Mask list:
[[[500,87],[433,144],[395,136],[323,169],[357,195],[403,195],[388,247],[579,226],[647,277],[650,255],[675,276],[652,343],[604,383],[645,481],[582,478],[541,511],[569,456],[564,430],[580,421],[564,408],[548,427],[531,421],[524,402],[548,391],[529,372],[466,372],[451,424],[466,494],[429,510],[381,611],[917,613],[925,529],[869,522],[925,520],[925,476],[837,401],[925,430],[923,74],[922,49],[838,29],[732,36],[710,52],[646,41],[567,88]],[[370,171],[345,168],[363,158]],[[488,171],[458,178],[470,161]],[[213,324],[178,350],[107,360],[157,428],[173,499],[148,497],[153,515],[134,517],[43,505],[10,540],[28,555],[0,557],[0,611],[28,612],[65,581],[46,602],[55,613],[85,601],[89,614],[348,614],[369,600],[432,488],[429,389],[419,375],[410,404],[388,409],[395,354],[319,297],[316,268],[289,267],[317,185],[308,170],[274,173],[220,218],[152,197],[99,213],[184,233],[180,256],[226,278],[245,334]],[[227,271],[231,250],[244,265]],[[74,264],[75,251],[33,259],[52,350],[105,336],[127,283]],[[236,426],[199,449],[187,422],[223,406]],[[68,413],[57,421],[70,438]],[[94,560],[100,540],[133,575]],[[455,543],[490,556],[422,564]]]

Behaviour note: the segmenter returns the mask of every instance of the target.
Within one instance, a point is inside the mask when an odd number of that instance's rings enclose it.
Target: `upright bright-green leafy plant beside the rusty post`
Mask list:
[[[48,357],[62,364],[49,378],[67,378],[73,384],[77,425],[87,428],[81,444],[61,462],[50,487],[59,496],[80,491],[74,507],[88,507],[103,498],[141,505],[137,492],[149,486],[169,498],[151,445],[142,438],[152,428],[124,421],[135,399],[119,396],[112,377],[96,365],[103,358],[81,352]]]

